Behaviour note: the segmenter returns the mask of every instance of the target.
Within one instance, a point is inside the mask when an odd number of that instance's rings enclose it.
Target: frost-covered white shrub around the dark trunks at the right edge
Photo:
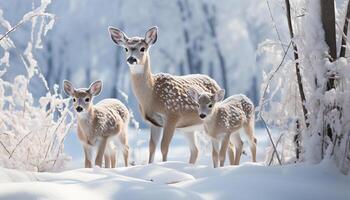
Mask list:
[[[295,60],[290,54],[278,70],[274,69],[265,77],[262,90],[265,91],[267,84],[269,86],[267,95],[260,102],[261,114],[269,124],[284,132],[283,152],[279,152],[284,163],[319,163],[326,158],[334,160],[340,170],[347,173],[350,169],[350,59],[349,56],[330,59],[321,19],[321,1],[291,3],[294,28],[292,41],[297,46],[299,58]],[[342,9],[336,8],[335,24],[344,23],[347,3],[345,1],[345,12],[339,12]],[[336,27],[336,34],[340,36],[336,38],[337,44],[340,44],[343,34],[339,27]],[[279,55],[278,58],[284,54],[276,45],[271,48],[265,44],[262,45],[264,48],[274,56]],[[345,48],[349,51],[349,46]],[[301,72],[301,82],[296,77],[296,63]],[[272,76],[274,84],[270,83]],[[335,86],[330,87],[332,76]],[[305,92],[303,104],[306,115],[298,88],[300,83]]]

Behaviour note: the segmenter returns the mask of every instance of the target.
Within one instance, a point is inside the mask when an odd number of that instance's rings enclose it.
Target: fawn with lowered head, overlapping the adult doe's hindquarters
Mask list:
[[[254,136],[254,105],[251,100],[245,95],[239,94],[222,101],[225,90],[211,94],[190,88],[188,93],[197,103],[198,115],[204,121],[205,132],[212,138],[214,167],[218,167],[219,160],[220,166],[224,166],[227,151],[230,164],[239,164],[243,142],[238,131],[242,127],[248,136],[252,161],[256,162],[257,140]],[[230,146],[229,149],[228,146]]]

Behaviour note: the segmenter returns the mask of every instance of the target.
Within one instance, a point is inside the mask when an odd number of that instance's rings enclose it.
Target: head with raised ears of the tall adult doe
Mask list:
[[[152,44],[157,41],[158,28],[149,29],[145,37],[131,37],[114,27],[109,27],[112,40],[125,49],[125,58],[128,65],[145,65],[148,51]]]

